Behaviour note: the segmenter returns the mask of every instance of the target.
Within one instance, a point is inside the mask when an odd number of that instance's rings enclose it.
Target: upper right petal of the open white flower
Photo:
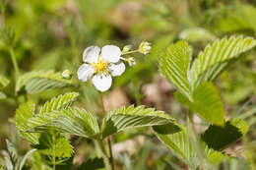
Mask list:
[[[116,63],[119,61],[122,51],[118,46],[105,45],[101,49],[102,58],[110,63]]]

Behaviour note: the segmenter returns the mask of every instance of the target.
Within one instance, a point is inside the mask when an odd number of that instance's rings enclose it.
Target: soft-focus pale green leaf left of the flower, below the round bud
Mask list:
[[[16,92],[20,91],[23,86],[25,86],[27,92],[34,93],[70,85],[73,85],[73,82],[63,79],[61,73],[36,71],[19,77],[16,84]]]

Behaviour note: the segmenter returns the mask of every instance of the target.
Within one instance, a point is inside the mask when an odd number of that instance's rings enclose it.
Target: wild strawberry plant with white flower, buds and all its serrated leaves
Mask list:
[[[101,92],[111,87],[114,77],[125,72],[126,65],[136,64],[134,58],[126,55],[135,52],[146,55],[150,52],[149,42],[143,41],[136,50],[131,50],[131,46],[125,46],[123,50],[114,45],[105,45],[101,49],[90,46],[83,53],[84,63],[74,75],[69,70],[62,73],[33,71],[22,74],[12,46],[9,46],[14,59],[15,81],[0,76],[3,89],[0,97],[10,95],[17,99],[28,93],[74,87],[80,84],[79,81],[83,84],[92,81],[99,91],[102,114],[97,117],[94,112],[73,105],[80,95],[78,91],[65,92],[42,105],[24,97],[24,102],[16,110],[14,122],[20,135],[31,142],[33,149],[18,161],[18,154],[7,142],[9,151],[3,151],[6,160],[4,168],[22,169],[27,157],[34,153],[43,159],[48,169],[55,169],[56,165],[76,154],[70,137],[77,136],[94,142],[95,153],[92,154],[103,160],[104,166],[101,168],[114,170],[114,135],[129,129],[152,127],[160,141],[191,169],[214,169],[224,159],[231,159],[225,154],[224,148],[248,131],[248,124],[244,120],[225,119],[224,102],[214,80],[255,46],[256,40],[252,37],[230,36],[207,45],[195,58],[192,47],[184,40],[167,45],[160,51],[160,73],[175,86],[176,99],[187,108],[186,122],[144,105],[105,111]],[[194,130],[193,114],[208,125],[203,133]]]

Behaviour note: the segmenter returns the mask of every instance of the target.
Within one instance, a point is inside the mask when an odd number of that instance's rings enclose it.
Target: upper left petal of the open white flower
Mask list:
[[[85,49],[83,52],[84,62],[93,63],[97,61],[99,56],[100,48],[98,46],[90,46]]]

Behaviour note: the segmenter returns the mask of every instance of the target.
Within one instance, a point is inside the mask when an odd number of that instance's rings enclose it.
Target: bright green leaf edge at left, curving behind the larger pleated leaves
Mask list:
[[[16,110],[15,120],[20,134],[28,141],[36,144],[38,143],[39,134],[25,133],[31,129],[31,127],[28,125],[28,121],[34,116],[34,111],[35,105],[32,101],[20,104],[19,108]]]

